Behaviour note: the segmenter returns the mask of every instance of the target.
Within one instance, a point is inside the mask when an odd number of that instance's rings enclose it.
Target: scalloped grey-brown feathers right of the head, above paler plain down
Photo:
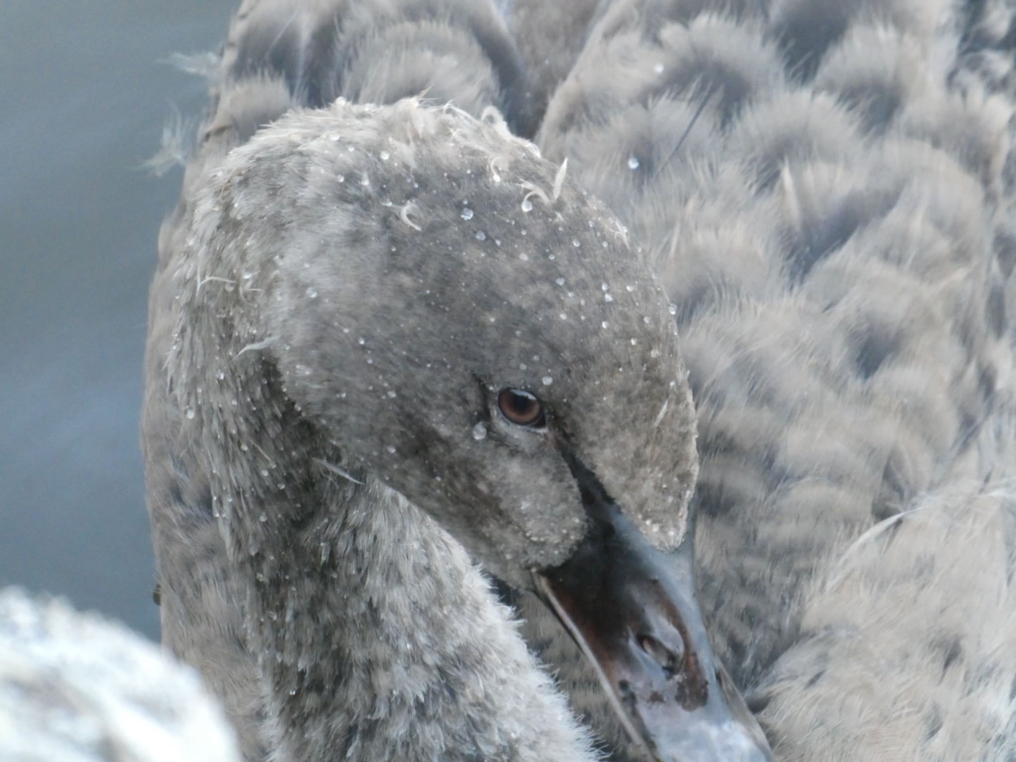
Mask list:
[[[962,22],[905,0],[619,2],[541,128],[679,306],[737,680],[792,639],[770,613],[842,537],[936,486],[1011,362],[1012,107],[954,84]]]

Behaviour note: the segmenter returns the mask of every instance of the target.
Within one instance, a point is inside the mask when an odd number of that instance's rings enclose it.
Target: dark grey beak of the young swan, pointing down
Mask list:
[[[657,762],[769,762],[755,717],[713,655],[695,597],[694,531],[652,548],[616,506],[536,588],[594,665],[632,740]]]

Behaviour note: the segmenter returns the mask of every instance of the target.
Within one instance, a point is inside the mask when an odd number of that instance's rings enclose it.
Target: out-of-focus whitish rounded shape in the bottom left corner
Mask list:
[[[6,588],[0,758],[237,762],[240,753],[192,670],[119,625]]]

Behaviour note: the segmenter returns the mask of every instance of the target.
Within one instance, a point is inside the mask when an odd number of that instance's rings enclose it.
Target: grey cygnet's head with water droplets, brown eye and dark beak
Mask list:
[[[231,367],[267,358],[345,472],[536,589],[633,738],[660,760],[765,758],[695,600],[672,310],[566,170],[496,115],[338,103],[235,150],[193,233],[184,320],[223,335],[228,315]]]

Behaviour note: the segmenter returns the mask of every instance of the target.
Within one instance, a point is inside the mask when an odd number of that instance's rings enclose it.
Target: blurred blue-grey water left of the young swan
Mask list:
[[[239,0],[0,0],[0,585],[157,637],[138,410],[174,108]]]

